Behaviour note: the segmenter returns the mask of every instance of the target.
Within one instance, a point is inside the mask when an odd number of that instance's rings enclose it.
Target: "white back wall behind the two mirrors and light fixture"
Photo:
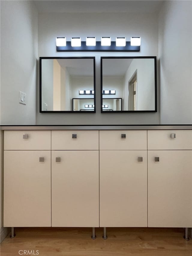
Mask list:
[[[140,52],[98,53],[98,52],[56,52],[55,38],[109,35],[116,37],[141,36]],[[38,17],[38,55],[43,56],[95,56],[96,64],[96,113],[39,113],[38,125],[94,125],[94,124],[159,124],[159,113],[101,113],[101,56],[158,56],[158,14],[134,13],[40,13]],[[39,82],[38,82],[39,83]],[[39,97],[39,96],[38,96]],[[39,101],[39,98],[38,98]],[[39,102],[38,102],[39,105]],[[38,108],[37,108],[38,109]]]

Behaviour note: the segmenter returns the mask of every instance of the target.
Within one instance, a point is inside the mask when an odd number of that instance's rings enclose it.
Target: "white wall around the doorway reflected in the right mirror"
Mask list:
[[[124,109],[128,110],[129,80],[137,70],[137,110],[155,110],[154,59],[133,59],[125,74]]]

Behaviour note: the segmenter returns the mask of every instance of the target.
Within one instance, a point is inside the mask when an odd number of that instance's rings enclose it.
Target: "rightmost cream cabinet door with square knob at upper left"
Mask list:
[[[148,226],[192,227],[191,150],[148,151]]]

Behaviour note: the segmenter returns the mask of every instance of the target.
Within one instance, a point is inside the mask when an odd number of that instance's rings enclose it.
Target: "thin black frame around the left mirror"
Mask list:
[[[94,80],[94,111],[43,111],[42,110],[42,59],[93,59],[93,80]],[[96,100],[95,100],[95,56],[85,57],[39,57],[39,112],[40,113],[96,113]],[[72,99],[71,99],[72,100]]]

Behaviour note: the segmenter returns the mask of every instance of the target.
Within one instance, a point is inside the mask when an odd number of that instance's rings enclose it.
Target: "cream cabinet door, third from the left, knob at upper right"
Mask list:
[[[100,151],[100,227],[147,227],[146,150]]]

